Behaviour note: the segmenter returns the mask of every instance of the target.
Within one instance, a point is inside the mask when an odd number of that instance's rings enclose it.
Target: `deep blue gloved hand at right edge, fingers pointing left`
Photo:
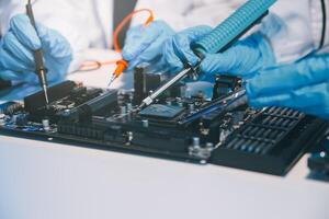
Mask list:
[[[256,107],[284,106],[329,118],[329,56],[262,71],[247,83],[249,103]]]

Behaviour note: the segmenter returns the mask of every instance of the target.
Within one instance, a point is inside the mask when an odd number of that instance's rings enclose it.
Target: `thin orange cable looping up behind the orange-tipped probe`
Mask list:
[[[114,47],[114,50],[117,51],[117,53],[121,53],[122,49],[118,45],[118,35],[120,33],[122,32],[122,30],[125,27],[125,25],[127,25],[127,23],[138,13],[140,12],[148,12],[149,13],[149,16],[148,19],[146,20],[146,22],[144,23],[144,26],[147,26],[149,25],[154,20],[155,20],[155,16],[154,16],[154,12],[150,10],[150,9],[138,9],[138,10],[135,10],[133,12],[131,12],[124,20],[122,20],[122,22],[117,25],[117,27],[115,28],[115,31],[113,32],[113,47]],[[101,68],[102,66],[105,66],[105,65],[115,65],[117,60],[105,60],[105,61],[84,61],[79,70],[95,70],[95,69],[99,69]]]

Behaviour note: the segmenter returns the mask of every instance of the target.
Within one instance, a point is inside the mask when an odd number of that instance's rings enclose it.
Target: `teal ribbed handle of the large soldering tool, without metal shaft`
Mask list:
[[[209,34],[192,44],[194,53],[203,59],[206,54],[222,53],[259,23],[276,0],[249,0]]]

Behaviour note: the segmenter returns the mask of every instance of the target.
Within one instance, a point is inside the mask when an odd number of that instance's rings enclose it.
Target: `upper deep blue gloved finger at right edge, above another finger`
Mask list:
[[[269,95],[284,90],[319,83],[328,78],[329,56],[313,57],[297,64],[262,71],[247,84],[250,95]]]

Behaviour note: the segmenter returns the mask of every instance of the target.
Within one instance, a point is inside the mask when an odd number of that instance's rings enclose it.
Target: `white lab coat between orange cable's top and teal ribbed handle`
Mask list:
[[[136,9],[151,9],[155,19],[166,21],[175,31],[196,25],[216,26],[245,0],[139,0]],[[136,15],[133,25],[146,21],[146,15]]]

